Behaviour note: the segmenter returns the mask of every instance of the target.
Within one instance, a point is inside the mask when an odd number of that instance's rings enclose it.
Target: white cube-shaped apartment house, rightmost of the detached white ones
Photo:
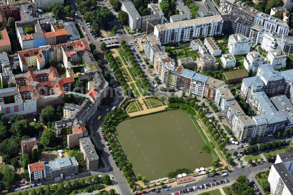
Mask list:
[[[268,56],[266,57],[266,60],[274,69],[285,68],[287,64],[286,63],[287,56],[285,52],[280,49],[269,51]]]

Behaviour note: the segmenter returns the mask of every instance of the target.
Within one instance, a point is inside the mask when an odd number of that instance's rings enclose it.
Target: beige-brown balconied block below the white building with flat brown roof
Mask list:
[[[196,64],[197,69],[199,69],[200,71],[217,70],[219,67],[219,62],[212,55],[200,58],[197,57]]]

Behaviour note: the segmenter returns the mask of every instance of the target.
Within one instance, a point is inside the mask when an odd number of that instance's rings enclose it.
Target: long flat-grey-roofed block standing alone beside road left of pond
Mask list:
[[[79,138],[79,148],[85,156],[85,166],[88,170],[97,169],[99,165],[99,156],[89,137]]]

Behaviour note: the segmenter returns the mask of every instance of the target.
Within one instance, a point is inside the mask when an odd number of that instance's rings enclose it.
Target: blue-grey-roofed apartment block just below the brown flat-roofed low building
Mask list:
[[[243,98],[243,100],[246,100],[249,94],[263,91],[264,88],[265,83],[263,83],[259,76],[243,78],[240,89],[240,96]]]

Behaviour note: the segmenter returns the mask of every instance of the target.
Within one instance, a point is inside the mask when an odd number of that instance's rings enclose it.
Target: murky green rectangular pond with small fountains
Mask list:
[[[151,181],[178,168],[195,170],[212,165],[212,154],[190,117],[170,110],[121,122],[117,136],[136,174]]]

